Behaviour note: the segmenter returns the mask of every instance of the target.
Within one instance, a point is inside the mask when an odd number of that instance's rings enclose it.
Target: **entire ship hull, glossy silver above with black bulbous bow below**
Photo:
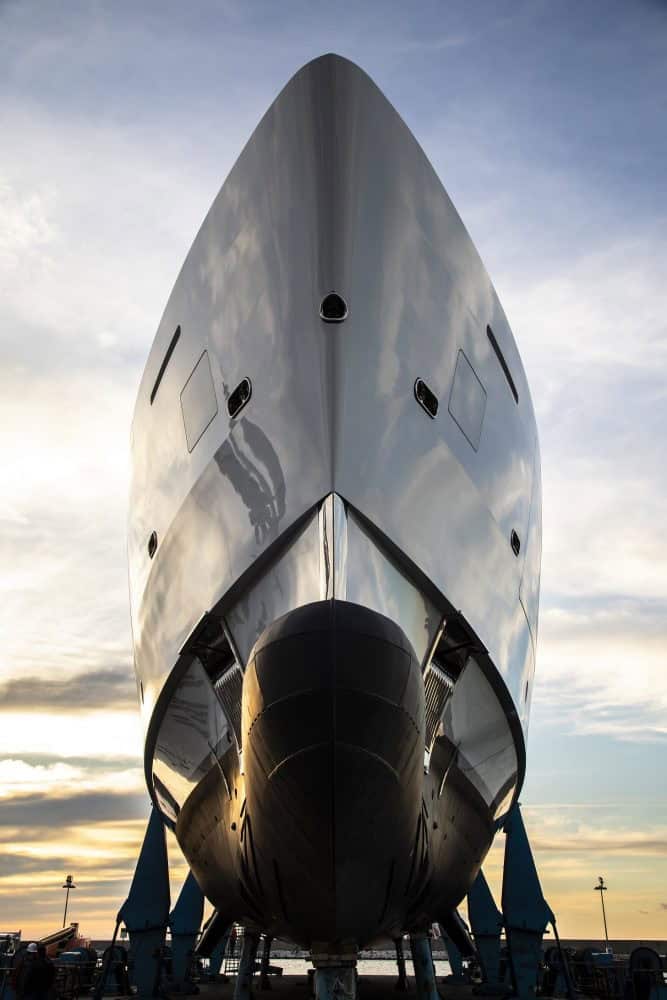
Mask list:
[[[523,778],[540,510],[470,238],[375,85],[315,60],[195,240],[133,427],[147,781],[230,920],[354,949],[465,895]]]

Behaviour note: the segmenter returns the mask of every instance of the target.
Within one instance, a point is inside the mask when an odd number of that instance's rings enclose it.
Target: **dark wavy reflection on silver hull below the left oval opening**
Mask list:
[[[275,448],[261,427],[244,417],[218,449],[215,461],[245,504],[255,540],[263,542],[275,533],[285,513],[285,477]]]

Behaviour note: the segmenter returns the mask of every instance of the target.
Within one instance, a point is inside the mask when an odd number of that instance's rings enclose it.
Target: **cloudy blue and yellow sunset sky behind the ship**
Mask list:
[[[563,936],[667,938],[667,5],[0,0],[0,924],[108,937],[147,814],[131,410],[185,253],[326,51],[403,115],[521,350],[544,480],[522,801]],[[500,845],[502,846],[502,845]],[[183,875],[170,843],[174,885]],[[499,849],[488,868],[498,884]]]

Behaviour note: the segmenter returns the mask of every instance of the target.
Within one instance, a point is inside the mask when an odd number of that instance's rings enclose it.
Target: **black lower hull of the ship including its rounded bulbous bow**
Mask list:
[[[253,650],[244,773],[230,751],[176,833],[230,919],[314,950],[362,946],[451,911],[491,843],[453,748],[436,751],[425,775],[424,688],[403,632],[358,605],[307,605]]]

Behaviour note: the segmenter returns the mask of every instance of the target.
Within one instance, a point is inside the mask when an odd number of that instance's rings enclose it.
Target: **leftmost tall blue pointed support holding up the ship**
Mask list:
[[[167,842],[160,814],[153,808],[130,893],[118,913],[130,935],[128,973],[140,998],[156,996],[159,989],[169,901]]]

